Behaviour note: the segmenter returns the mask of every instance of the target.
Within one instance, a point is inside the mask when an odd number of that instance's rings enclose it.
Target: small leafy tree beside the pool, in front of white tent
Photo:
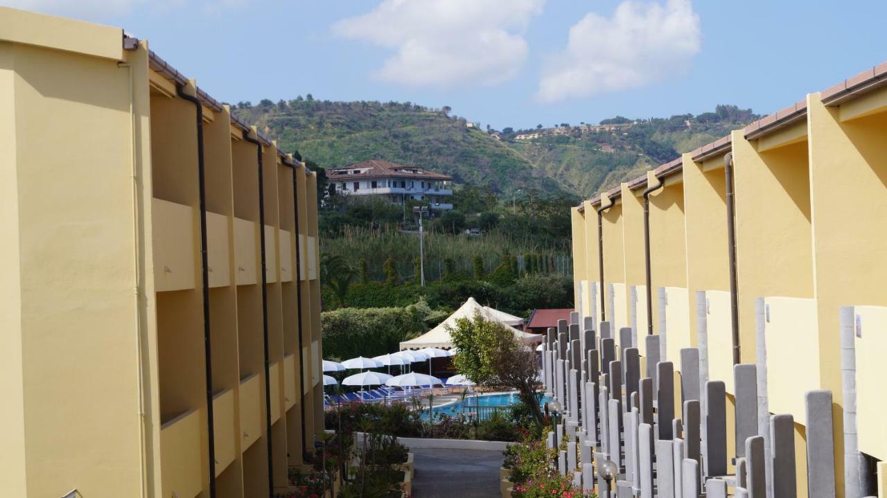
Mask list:
[[[459,350],[453,358],[456,370],[477,385],[516,389],[541,427],[544,421],[536,392],[538,364],[534,348],[522,344],[513,330],[484,320],[480,314],[474,319],[459,318],[455,327],[447,329]]]

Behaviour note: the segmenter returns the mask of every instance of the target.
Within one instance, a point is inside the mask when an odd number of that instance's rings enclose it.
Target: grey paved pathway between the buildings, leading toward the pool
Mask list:
[[[489,498],[500,496],[502,452],[482,449],[415,448],[415,498]]]

